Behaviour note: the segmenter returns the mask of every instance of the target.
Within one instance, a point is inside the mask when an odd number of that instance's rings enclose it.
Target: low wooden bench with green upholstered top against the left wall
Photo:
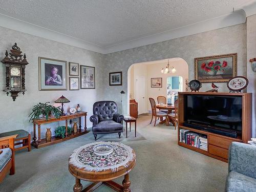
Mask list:
[[[0,134],[0,138],[7,137],[7,136],[10,136],[10,135],[18,135],[14,139],[14,142],[22,140],[22,142],[14,143],[14,145],[22,144],[21,147],[15,148],[15,151],[22,150],[23,148],[28,148],[28,151],[30,152],[30,150],[31,150],[31,144],[30,144],[31,136],[30,136],[29,132],[27,132],[25,130],[15,130],[15,131],[11,131],[11,132],[5,132],[5,133]]]

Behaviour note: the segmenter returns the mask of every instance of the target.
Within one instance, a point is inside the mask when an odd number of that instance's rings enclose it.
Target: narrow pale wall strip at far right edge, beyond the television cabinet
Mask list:
[[[252,137],[256,137],[256,72],[252,71],[251,58],[256,57],[256,15],[247,17],[247,92],[252,94]]]

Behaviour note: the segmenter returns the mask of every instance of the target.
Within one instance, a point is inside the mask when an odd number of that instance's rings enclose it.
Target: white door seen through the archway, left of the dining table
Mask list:
[[[145,113],[145,78],[136,76],[135,81],[136,101],[138,102],[138,114]]]

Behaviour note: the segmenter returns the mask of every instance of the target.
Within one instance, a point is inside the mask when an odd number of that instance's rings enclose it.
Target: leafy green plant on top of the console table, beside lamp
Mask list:
[[[40,115],[42,115],[43,117],[46,117],[46,120],[48,120],[49,116],[55,116],[55,118],[59,118],[59,116],[61,115],[61,111],[59,106],[56,108],[53,105],[48,104],[50,102],[46,102],[46,103],[38,103],[37,105],[34,105],[34,108],[31,112],[31,114],[29,115],[30,119],[29,121],[31,121],[31,119],[38,119]]]

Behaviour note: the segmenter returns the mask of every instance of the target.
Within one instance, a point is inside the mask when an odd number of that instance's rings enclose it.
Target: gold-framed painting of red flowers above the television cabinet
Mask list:
[[[228,82],[237,76],[237,53],[195,58],[195,79]]]

